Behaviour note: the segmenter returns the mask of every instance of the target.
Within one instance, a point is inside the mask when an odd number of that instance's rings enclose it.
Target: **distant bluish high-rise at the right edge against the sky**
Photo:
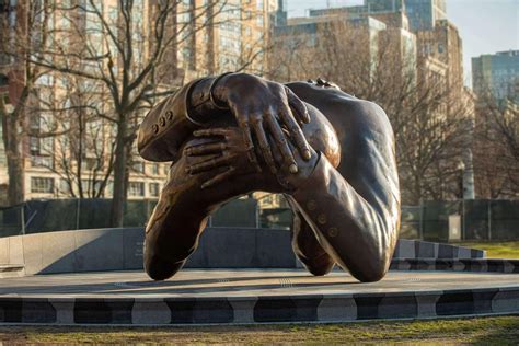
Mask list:
[[[519,104],[519,50],[472,58],[472,88],[480,96],[491,93]]]

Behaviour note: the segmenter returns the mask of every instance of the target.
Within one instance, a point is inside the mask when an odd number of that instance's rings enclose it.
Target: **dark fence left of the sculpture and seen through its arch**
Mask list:
[[[157,200],[128,200],[124,227],[145,227]],[[28,200],[0,208],[0,237],[61,230],[109,228],[111,199]],[[208,221],[210,227],[290,229],[287,208],[258,207],[254,198],[239,198],[223,205]]]

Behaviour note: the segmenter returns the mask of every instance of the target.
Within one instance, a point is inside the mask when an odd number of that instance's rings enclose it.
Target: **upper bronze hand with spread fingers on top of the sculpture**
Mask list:
[[[290,140],[304,160],[311,159],[310,146],[301,130],[302,124],[310,123],[310,115],[304,103],[290,89],[256,76],[232,73],[222,77],[212,93],[215,101],[228,106],[234,115],[245,135],[246,148],[253,146],[254,135],[265,163],[273,173],[278,171],[273,148],[282,158],[279,168],[286,166],[293,174],[298,172],[299,165],[290,149]]]

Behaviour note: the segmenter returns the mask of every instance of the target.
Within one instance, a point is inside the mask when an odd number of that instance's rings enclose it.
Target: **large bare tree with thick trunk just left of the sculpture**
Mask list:
[[[185,5],[180,0],[120,0],[112,7],[89,0],[54,8],[62,25],[55,28],[45,55],[31,62],[81,77],[109,95],[113,113],[97,115],[109,122],[115,132],[113,226],[123,222],[131,148],[140,119],[158,97],[175,89],[171,73],[160,73],[161,65],[176,59],[168,54],[176,55],[195,33],[215,25],[224,5],[215,1],[194,8],[193,2]]]

